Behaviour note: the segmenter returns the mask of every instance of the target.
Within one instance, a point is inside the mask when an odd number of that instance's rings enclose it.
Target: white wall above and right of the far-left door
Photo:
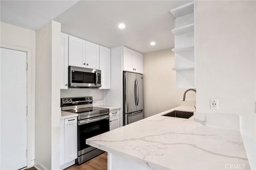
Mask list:
[[[30,49],[28,55],[28,167],[34,164],[34,99],[36,32],[0,22],[0,43],[12,49]]]

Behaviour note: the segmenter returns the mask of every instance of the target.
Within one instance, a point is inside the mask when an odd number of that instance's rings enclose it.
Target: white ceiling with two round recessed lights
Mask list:
[[[1,0],[1,22],[38,30],[50,20],[61,31],[109,48],[124,45],[141,53],[174,47],[171,9],[183,0]],[[118,28],[119,23],[126,27]],[[151,46],[150,42],[156,42]]]

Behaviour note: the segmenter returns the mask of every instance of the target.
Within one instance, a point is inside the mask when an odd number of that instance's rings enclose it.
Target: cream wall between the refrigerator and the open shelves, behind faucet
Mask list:
[[[179,106],[186,89],[176,88],[176,73],[172,70],[172,50],[144,54],[143,65],[145,117]],[[196,100],[196,93],[188,91],[186,100]]]

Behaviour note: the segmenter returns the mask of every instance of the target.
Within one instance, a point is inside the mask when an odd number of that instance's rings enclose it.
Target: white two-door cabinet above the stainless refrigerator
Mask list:
[[[123,70],[143,73],[143,54],[123,47]]]

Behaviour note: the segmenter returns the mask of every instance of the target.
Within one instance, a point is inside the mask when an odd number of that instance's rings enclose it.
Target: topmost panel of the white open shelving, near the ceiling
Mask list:
[[[179,18],[181,16],[193,13],[194,12],[194,2],[180,6],[178,8],[174,8],[174,9],[170,10],[170,12],[172,13],[172,15],[175,18]]]

